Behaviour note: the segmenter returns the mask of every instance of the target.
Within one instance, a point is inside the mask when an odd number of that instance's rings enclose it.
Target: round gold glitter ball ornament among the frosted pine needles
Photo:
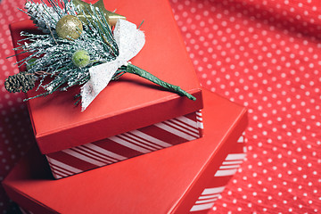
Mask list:
[[[57,22],[56,32],[58,37],[75,40],[80,37],[83,30],[81,21],[73,15],[64,15]]]

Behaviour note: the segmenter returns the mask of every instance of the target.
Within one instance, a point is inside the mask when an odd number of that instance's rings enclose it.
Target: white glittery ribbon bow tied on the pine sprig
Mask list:
[[[114,61],[89,69],[90,79],[80,88],[81,111],[86,110],[86,107],[108,85],[119,67],[127,65],[128,61],[142,50],[145,43],[144,32],[137,29],[134,23],[125,20],[117,21],[114,37],[119,47],[119,56]]]

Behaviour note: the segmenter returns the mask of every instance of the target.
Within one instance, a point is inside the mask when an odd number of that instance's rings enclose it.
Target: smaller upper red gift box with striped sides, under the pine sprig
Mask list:
[[[169,2],[103,2],[107,10],[117,9],[128,21],[136,24],[144,21],[141,29],[146,43],[131,62],[164,81],[181,86],[197,100],[191,101],[131,74],[123,75],[107,86],[84,112],[73,104],[73,95],[79,93],[79,88],[29,100],[29,115],[37,144],[46,155],[55,178],[202,136],[199,112],[202,110],[202,90]],[[37,29],[32,21],[13,23],[14,46],[21,39],[21,30]],[[17,55],[18,62],[24,56]],[[31,91],[28,96],[37,94]]]

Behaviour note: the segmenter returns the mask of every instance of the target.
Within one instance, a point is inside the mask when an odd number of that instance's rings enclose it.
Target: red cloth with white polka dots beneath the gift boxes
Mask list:
[[[24,95],[9,94],[8,24],[24,0],[0,3],[0,180],[33,144]],[[210,213],[321,211],[321,3],[170,0],[202,86],[249,109],[247,158]],[[17,208],[0,190],[0,210]]]

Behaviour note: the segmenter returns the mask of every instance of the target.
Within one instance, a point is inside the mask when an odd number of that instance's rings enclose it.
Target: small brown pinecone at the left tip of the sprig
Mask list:
[[[35,87],[36,76],[27,72],[21,72],[5,79],[4,87],[8,92],[24,92]]]

